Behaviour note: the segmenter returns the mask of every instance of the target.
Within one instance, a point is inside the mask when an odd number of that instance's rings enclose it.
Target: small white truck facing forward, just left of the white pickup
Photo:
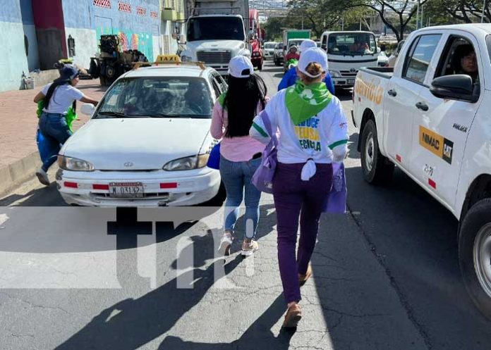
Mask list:
[[[380,50],[372,32],[324,32],[320,43],[335,87],[353,87],[360,68],[378,65]]]

